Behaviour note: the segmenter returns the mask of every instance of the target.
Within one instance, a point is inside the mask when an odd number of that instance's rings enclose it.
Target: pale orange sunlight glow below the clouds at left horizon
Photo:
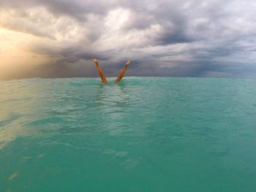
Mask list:
[[[22,76],[33,67],[46,64],[49,58],[31,52],[34,43],[41,38],[0,26],[0,79]]]

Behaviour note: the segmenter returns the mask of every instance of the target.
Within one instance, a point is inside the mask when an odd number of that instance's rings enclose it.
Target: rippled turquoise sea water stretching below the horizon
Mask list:
[[[256,80],[0,81],[0,191],[256,191]]]

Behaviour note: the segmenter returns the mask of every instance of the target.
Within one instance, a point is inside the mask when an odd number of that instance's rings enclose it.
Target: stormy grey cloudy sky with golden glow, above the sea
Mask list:
[[[0,0],[0,79],[256,77],[255,0]]]

